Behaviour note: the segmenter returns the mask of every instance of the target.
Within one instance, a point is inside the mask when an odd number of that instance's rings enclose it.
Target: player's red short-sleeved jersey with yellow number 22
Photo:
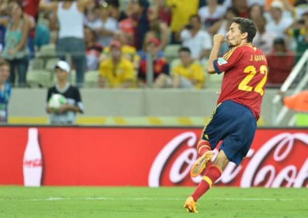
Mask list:
[[[250,108],[258,120],[267,79],[267,60],[260,49],[235,46],[214,61],[218,74],[224,72],[217,104],[232,100]]]

